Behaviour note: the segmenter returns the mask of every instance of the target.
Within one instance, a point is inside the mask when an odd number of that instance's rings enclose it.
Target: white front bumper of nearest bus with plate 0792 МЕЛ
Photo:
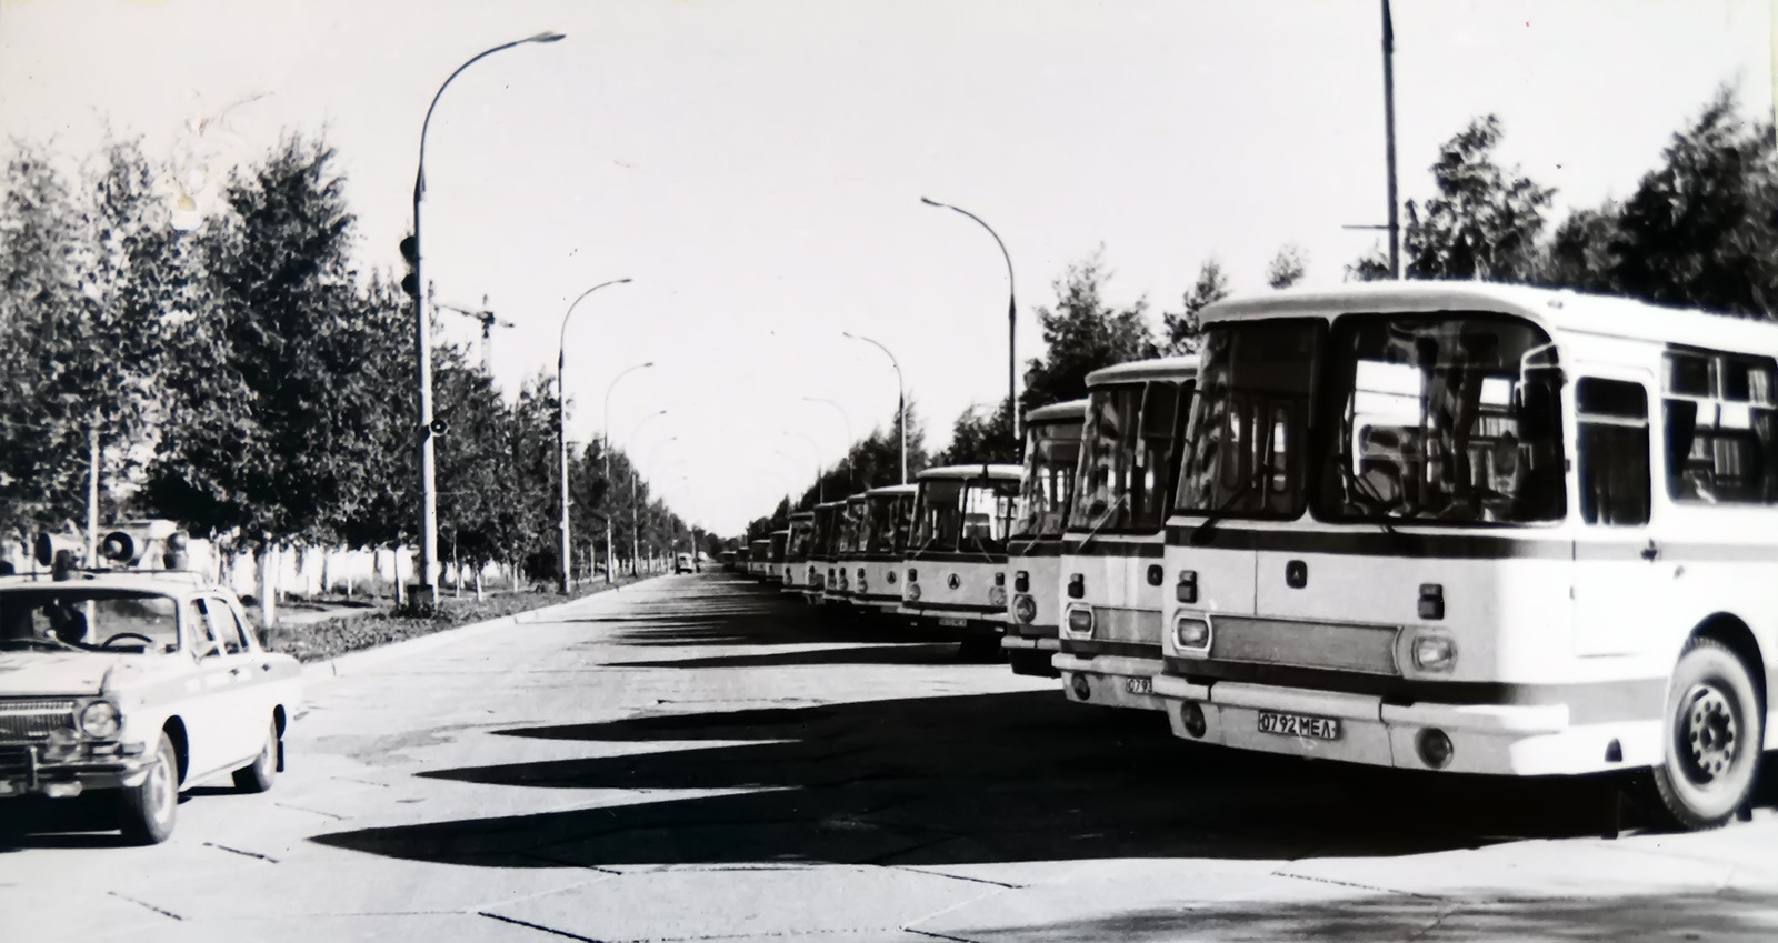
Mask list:
[[[1154,678],[1154,693],[1175,737],[1261,753],[1501,776],[1602,773],[1661,760],[1659,719],[1575,726],[1565,703],[1389,705],[1367,694],[1193,684],[1175,675]],[[1339,737],[1268,733],[1262,712],[1337,719]],[[1428,760],[1422,733],[1442,733],[1449,742],[1444,764]]]

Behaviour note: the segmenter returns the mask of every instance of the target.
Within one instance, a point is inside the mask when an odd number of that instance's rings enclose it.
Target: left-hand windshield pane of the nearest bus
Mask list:
[[[1204,332],[1175,508],[1298,517],[1309,391],[1325,321],[1230,321]]]

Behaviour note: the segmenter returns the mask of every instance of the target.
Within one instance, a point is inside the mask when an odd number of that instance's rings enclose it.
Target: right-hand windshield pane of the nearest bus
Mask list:
[[[1499,314],[1348,314],[1321,400],[1323,519],[1529,524],[1565,513],[1549,336]]]

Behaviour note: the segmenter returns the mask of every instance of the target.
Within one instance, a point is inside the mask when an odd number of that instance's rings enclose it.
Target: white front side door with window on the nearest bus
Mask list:
[[[1586,368],[1572,389],[1579,483],[1574,654],[1632,654],[1654,641],[1661,595],[1673,582],[1648,527],[1655,471],[1648,419],[1659,400],[1654,378],[1638,369]]]

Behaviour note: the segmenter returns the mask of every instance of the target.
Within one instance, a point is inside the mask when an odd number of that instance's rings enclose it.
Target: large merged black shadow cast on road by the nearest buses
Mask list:
[[[1595,835],[1604,822],[1604,788],[1591,780],[1472,780],[1234,753],[1175,741],[1159,716],[1083,709],[1049,691],[500,733],[688,748],[423,776],[555,790],[749,792],[316,840],[510,867],[937,865],[1408,854]]]

